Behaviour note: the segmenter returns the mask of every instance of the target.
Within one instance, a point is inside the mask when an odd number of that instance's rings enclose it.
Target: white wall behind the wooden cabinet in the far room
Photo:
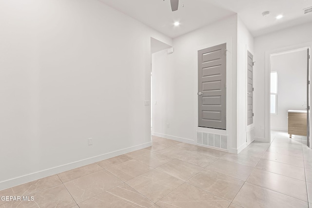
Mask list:
[[[307,108],[307,49],[271,57],[271,71],[276,71],[277,114],[271,114],[271,129],[288,131],[288,110]]]

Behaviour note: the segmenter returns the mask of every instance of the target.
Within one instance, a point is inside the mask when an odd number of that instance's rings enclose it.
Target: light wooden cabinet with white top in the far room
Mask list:
[[[307,111],[288,111],[288,134],[307,135]]]

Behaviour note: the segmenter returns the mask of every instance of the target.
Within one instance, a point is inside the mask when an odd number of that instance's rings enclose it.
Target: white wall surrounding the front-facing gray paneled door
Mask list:
[[[197,51],[227,42],[227,130],[219,131],[197,127]],[[159,52],[153,64],[153,85],[162,93],[153,95],[153,133],[180,141],[195,143],[196,131],[218,132],[229,136],[230,149],[237,150],[236,143],[236,56],[237,15],[215,22],[201,29],[174,39],[174,53],[167,56]],[[162,67],[171,64],[171,66]],[[230,64],[229,64],[230,63]],[[158,71],[158,72],[156,72]],[[154,74],[154,73],[157,73]],[[161,101],[159,101],[161,100]],[[157,112],[157,113],[156,113]],[[169,124],[169,128],[167,127]]]

